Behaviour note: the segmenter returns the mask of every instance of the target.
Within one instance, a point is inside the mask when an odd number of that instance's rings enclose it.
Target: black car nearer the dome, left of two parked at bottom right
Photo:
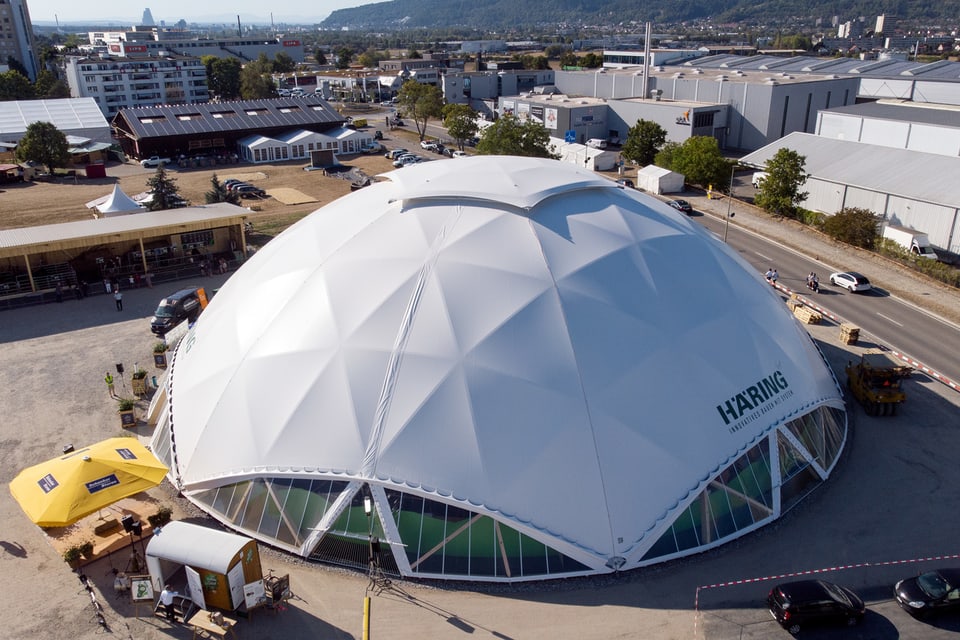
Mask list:
[[[866,613],[863,600],[846,587],[826,580],[798,580],[778,584],[767,596],[767,606],[780,626],[791,634],[807,625],[853,626]]]

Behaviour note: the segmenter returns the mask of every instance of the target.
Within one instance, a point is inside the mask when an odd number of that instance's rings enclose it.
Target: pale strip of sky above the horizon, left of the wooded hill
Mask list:
[[[77,0],[27,0],[30,20],[35,23],[66,22],[89,23],[96,20],[116,20],[124,24],[137,24],[143,17],[143,10],[150,9],[154,21],[161,20],[172,25],[183,18],[187,22],[236,22],[273,21],[313,23],[320,22],[331,11],[358,7],[377,0],[231,0],[231,2],[197,2],[196,0],[163,0],[155,4],[141,4],[129,0],[99,0],[98,2],[77,2]],[[382,0],[380,0],[382,1]]]

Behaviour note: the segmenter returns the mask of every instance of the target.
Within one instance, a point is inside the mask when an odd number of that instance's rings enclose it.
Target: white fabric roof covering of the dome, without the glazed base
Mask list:
[[[184,341],[187,488],[346,475],[606,558],[759,435],[841,401],[759,274],[648,196],[530,158],[387,177],[255,254]],[[786,390],[727,424],[718,406],[776,372]]]

